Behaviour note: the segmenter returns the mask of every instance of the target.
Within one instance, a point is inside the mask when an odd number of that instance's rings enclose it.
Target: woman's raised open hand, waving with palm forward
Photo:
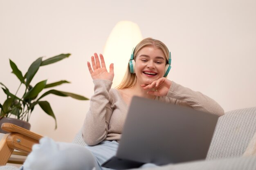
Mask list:
[[[99,61],[99,57],[101,59],[101,62]],[[94,53],[94,56],[91,57],[92,67],[90,62],[87,62],[87,66],[92,76],[92,79],[107,79],[112,82],[114,78],[114,64],[110,64],[108,73],[103,55],[100,54],[99,57],[97,53]]]

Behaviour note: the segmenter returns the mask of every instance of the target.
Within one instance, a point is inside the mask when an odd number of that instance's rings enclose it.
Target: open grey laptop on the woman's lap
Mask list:
[[[133,97],[116,156],[101,166],[138,168],[205,159],[218,116]]]

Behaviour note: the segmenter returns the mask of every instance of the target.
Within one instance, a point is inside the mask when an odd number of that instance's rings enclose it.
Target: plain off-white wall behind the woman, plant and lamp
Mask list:
[[[93,84],[86,61],[94,52],[103,52],[117,22],[130,20],[144,38],[162,40],[172,52],[169,79],[212,97],[225,111],[256,106],[255,9],[255,0],[0,0],[0,82],[13,93],[18,88],[9,58],[24,74],[40,56],[72,53],[40,68],[32,84],[67,79],[72,84],[56,89],[90,97]],[[0,91],[1,103],[4,97]],[[56,114],[58,129],[38,106],[31,130],[72,141],[89,101],[54,95],[45,99]]]

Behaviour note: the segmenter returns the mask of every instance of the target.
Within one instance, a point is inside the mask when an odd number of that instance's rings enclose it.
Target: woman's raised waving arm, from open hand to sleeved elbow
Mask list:
[[[96,145],[103,141],[108,133],[108,124],[112,115],[109,91],[114,78],[114,66],[106,69],[103,55],[97,53],[91,57],[92,66],[87,62],[94,83],[94,95],[90,100],[90,109],[83,124],[83,140],[88,145]]]

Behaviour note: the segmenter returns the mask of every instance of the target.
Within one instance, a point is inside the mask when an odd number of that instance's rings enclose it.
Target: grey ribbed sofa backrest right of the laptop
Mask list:
[[[243,155],[255,132],[256,107],[225,113],[218,120],[207,159]]]

